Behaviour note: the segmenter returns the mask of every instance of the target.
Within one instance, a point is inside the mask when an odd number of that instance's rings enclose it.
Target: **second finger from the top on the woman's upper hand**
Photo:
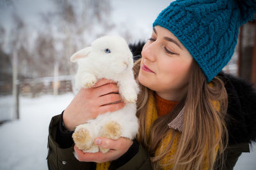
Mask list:
[[[110,93],[118,93],[118,86],[115,83],[108,83],[93,89],[97,96],[104,96]]]

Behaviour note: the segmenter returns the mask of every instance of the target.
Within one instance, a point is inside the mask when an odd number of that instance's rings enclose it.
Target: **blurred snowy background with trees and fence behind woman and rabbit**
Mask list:
[[[51,117],[74,97],[70,56],[107,34],[147,41],[170,1],[0,0],[0,169],[47,169]],[[256,84],[256,22],[241,27],[223,69]],[[255,150],[255,149],[254,149]],[[243,153],[235,169],[255,169]]]

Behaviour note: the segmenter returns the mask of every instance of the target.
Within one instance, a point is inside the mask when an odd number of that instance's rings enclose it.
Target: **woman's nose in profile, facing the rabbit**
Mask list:
[[[157,53],[157,43],[156,41],[150,43],[149,41],[143,46],[141,55],[144,59],[148,59],[151,62],[156,60],[156,53]]]

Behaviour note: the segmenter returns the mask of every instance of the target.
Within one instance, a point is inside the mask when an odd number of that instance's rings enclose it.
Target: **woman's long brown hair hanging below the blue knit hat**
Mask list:
[[[140,60],[134,64],[134,73],[138,78]],[[210,83],[202,73],[198,64],[193,60],[191,76],[189,76],[188,92],[177,104],[171,113],[157,118],[150,130],[150,139],[146,136],[146,111],[150,89],[140,84],[141,92],[138,97],[137,116],[140,122],[140,130],[137,139],[147,148],[154,169],[173,164],[173,169],[202,169],[205,158],[209,169],[216,162],[216,148],[218,157],[227,146],[227,128],[225,115],[227,112],[227,91],[223,81],[215,77]],[[214,101],[218,101],[219,109],[214,108]],[[215,103],[216,104],[216,103]],[[155,152],[161,140],[170,133],[167,126],[184,107],[184,124],[179,138],[177,152],[167,164],[161,164],[160,160],[168,154],[172,148],[174,136],[179,133],[172,131],[172,139],[163,152],[155,156]]]

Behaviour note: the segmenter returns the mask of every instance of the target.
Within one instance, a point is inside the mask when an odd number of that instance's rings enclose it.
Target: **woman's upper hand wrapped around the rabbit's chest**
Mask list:
[[[68,131],[77,125],[96,118],[101,113],[120,110],[124,107],[118,86],[114,81],[101,79],[89,89],[81,89],[63,113],[63,122]]]

